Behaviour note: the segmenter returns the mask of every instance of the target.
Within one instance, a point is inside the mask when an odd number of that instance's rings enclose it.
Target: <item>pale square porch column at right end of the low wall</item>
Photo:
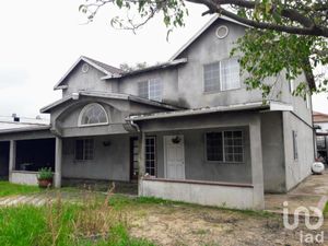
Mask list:
[[[259,116],[255,116],[249,124],[251,180],[254,186],[254,208],[265,208],[265,185],[263,164],[261,144],[261,121]]]

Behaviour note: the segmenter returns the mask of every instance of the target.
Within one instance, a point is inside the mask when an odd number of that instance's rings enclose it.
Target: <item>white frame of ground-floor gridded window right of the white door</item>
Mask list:
[[[233,162],[231,162],[231,161],[226,161],[225,160],[225,143],[224,143],[224,132],[229,132],[229,131],[232,131],[232,132],[234,132],[234,131],[241,131],[242,132],[242,161],[241,162],[236,162],[236,161],[233,161]],[[207,134],[208,133],[222,133],[222,150],[223,150],[223,152],[222,152],[222,159],[223,159],[223,161],[209,161],[208,160],[208,141],[207,141]],[[222,130],[222,131],[207,131],[207,132],[204,132],[204,155],[206,155],[206,161],[208,162],[208,163],[221,163],[221,164],[244,164],[245,163],[245,142],[244,142],[244,130],[239,130],[239,129],[237,129],[237,130]]]

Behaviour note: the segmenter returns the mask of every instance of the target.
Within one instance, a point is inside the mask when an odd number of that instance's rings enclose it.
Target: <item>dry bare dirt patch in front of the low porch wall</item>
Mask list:
[[[133,208],[129,214],[131,234],[159,245],[318,245],[301,244],[301,231],[303,235],[311,231],[303,223],[295,231],[285,230],[280,215],[166,204]],[[321,245],[328,245],[328,223],[323,230]]]

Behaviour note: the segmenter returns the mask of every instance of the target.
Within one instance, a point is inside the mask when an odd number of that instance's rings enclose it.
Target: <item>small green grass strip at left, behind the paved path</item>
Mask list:
[[[0,181],[0,197],[7,197],[12,195],[24,195],[39,192],[42,189],[37,186],[25,186],[11,184],[9,181]]]

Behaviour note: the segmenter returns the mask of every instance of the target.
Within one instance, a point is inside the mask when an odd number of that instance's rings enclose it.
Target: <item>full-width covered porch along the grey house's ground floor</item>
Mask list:
[[[94,136],[97,131],[90,127],[83,128],[84,136],[54,138],[48,131],[51,144],[45,145],[50,147],[54,159],[42,163],[49,163],[54,169],[56,187],[67,179],[136,184],[139,177],[139,196],[238,209],[263,208],[260,114],[222,113],[136,122],[139,131],[131,128],[125,133],[102,131]],[[24,141],[31,141],[31,134],[35,141],[44,139],[30,132]],[[37,184],[32,166],[17,162],[17,147],[23,139],[10,140],[10,180]],[[34,145],[27,155],[37,153],[42,145]],[[25,169],[17,169],[22,166]]]

